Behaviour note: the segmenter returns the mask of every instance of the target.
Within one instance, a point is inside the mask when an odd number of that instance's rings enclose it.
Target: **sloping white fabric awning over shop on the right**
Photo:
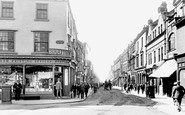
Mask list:
[[[154,71],[149,77],[170,77],[173,72],[177,70],[177,62],[172,59],[163,63],[156,71]]]

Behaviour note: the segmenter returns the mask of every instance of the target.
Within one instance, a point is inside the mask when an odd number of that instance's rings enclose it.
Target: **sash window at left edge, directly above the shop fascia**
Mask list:
[[[14,51],[14,31],[0,31],[0,51]]]

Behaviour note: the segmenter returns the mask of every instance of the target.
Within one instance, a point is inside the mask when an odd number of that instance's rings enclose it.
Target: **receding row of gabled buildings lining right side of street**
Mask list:
[[[185,86],[185,2],[173,1],[174,9],[167,11],[166,3],[158,8],[159,18],[148,20],[148,25],[141,30],[137,37],[126,47],[128,52],[128,70],[119,69],[125,65],[123,55],[114,61],[112,82],[120,84],[146,84],[155,86],[155,92],[171,96],[173,83],[177,80]],[[119,65],[119,66],[117,66]],[[120,74],[117,74],[119,71]],[[118,81],[125,76],[127,81]]]

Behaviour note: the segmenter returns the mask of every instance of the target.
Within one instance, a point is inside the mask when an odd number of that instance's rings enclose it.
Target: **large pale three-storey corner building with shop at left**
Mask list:
[[[20,80],[24,95],[52,97],[59,78],[69,96],[77,30],[68,0],[3,0],[0,6],[3,84]]]

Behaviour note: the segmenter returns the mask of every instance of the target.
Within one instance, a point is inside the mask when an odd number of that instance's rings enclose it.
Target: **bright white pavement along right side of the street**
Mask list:
[[[121,90],[121,88],[117,87],[117,86],[114,86],[113,88]],[[146,97],[145,93],[138,94],[136,91],[132,91],[129,94],[140,96],[140,97]],[[174,106],[173,100],[170,97],[155,94],[155,98],[151,98],[151,100],[157,102],[157,104],[155,106],[153,106],[153,108],[158,111],[167,113],[169,115],[185,115],[185,99],[182,100],[182,104],[181,104],[182,111],[181,112],[177,111],[177,107]]]

